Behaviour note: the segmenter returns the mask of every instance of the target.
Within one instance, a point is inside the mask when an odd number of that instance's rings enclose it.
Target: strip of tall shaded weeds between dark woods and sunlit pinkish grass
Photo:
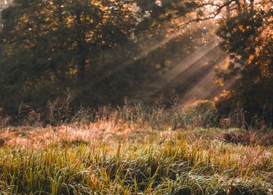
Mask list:
[[[253,116],[251,121],[246,123],[245,112],[240,104],[228,116],[223,116],[219,114],[212,101],[199,100],[183,104],[175,93],[171,93],[165,98],[161,96],[153,104],[148,105],[143,102],[129,104],[127,100],[120,107],[104,106],[97,109],[75,108],[71,104],[72,95],[65,93],[63,97],[47,102],[47,106],[42,109],[33,109],[29,104],[22,102],[18,108],[17,116],[13,118],[6,116],[3,109],[0,108],[0,127],[10,124],[45,127],[46,125],[88,124],[98,121],[118,123],[120,120],[156,130],[193,130],[196,127],[262,129],[270,126],[265,123],[265,116]]]

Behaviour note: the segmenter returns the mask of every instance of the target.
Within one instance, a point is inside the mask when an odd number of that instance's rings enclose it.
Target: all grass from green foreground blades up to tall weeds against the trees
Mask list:
[[[210,139],[220,131],[212,127],[244,125],[239,107],[221,118],[210,101],[72,110],[70,100],[48,102],[42,111],[21,105],[17,125],[32,130],[6,128],[12,141],[0,146],[0,194],[273,193],[272,148],[258,146],[268,139],[254,144],[256,134],[244,130]],[[0,119],[1,126],[10,120]],[[104,139],[104,131],[112,138]],[[17,135],[23,134],[21,148]]]

